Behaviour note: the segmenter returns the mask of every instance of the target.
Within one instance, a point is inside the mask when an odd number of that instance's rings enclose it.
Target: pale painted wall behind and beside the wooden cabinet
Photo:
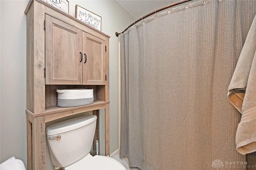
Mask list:
[[[110,153],[113,153],[119,147],[119,40],[115,32],[123,31],[134,21],[134,18],[115,0],[69,0],[69,2],[70,15],[75,16],[75,5],[78,4],[101,16],[102,31],[110,35]],[[0,163],[15,156],[23,160],[26,165],[26,15],[24,10],[27,4],[28,0],[0,0]],[[102,120],[104,115],[100,118]],[[104,132],[104,129],[100,129],[100,132]],[[103,138],[104,134],[101,133],[100,136]]]

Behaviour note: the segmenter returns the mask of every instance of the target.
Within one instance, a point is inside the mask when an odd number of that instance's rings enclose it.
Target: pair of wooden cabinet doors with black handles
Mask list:
[[[105,40],[47,14],[45,21],[46,84],[105,84]]]

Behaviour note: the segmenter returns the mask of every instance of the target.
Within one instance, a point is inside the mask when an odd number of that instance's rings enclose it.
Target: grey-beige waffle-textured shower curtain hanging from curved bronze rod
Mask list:
[[[120,36],[120,155],[142,170],[256,169],[236,151],[227,89],[256,0],[198,0]]]

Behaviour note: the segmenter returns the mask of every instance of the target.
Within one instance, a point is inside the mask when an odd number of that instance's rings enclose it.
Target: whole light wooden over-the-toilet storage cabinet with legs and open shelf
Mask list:
[[[30,0],[27,17],[28,170],[46,169],[47,122],[105,109],[109,155],[109,36],[42,0]],[[94,103],[57,107],[56,89],[93,88]],[[98,119],[94,141],[98,139]],[[94,142],[94,148],[95,148]],[[95,153],[95,151],[94,151]]]

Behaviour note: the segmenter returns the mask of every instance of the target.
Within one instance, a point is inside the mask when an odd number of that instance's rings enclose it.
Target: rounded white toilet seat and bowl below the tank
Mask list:
[[[86,155],[74,164],[64,167],[64,170],[126,170],[126,168],[108,156]]]

